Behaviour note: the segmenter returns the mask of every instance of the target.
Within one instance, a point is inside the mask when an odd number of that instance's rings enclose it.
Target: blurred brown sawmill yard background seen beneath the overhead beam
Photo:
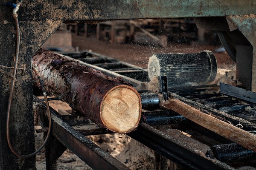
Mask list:
[[[210,50],[218,68],[235,69],[217,32],[197,28],[192,18],[63,23],[43,47],[61,53],[91,50],[143,68],[152,54]]]

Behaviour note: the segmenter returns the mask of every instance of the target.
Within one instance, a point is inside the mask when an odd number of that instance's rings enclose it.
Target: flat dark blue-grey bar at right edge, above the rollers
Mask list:
[[[256,103],[256,93],[238,88],[232,85],[220,84],[220,93],[228,96],[236,97],[248,102]]]

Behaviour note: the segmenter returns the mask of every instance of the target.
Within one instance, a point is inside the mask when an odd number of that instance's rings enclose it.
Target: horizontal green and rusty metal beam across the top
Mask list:
[[[256,0],[26,0],[19,14],[20,20],[214,17],[256,14]]]

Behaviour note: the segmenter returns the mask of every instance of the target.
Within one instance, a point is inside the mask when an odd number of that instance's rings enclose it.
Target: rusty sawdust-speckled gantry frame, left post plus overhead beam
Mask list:
[[[0,0],[5,3],[6,0]],[[115,20],[171,17],[230,16],[230,28],[239,28],[253,46],[253,62],[250,65],[252,91],[256,91],[256,42],[255,17],[237,15],[255,14],[255,0],[27,0],[20,7],[20,60],[18,63],[15,101],[12,105],[11,136],[19,153],[31,153],[35,149],[32,114],[31,57],[49,36],[63,23],[74,20]],[[254,22],[253,22],[254,21]],[[250,24],[247,27],[247,24]],[[0,6],[0,170],[35,169],[35,157],[19,159],[9,150],[6,142],[6,113],[9,96],[9,72],[15,53],[14,20],[9,8]],[[250,56],[249,56],[250,57]],[[241,75],[238,75],[240,78]],[[241,77],[242,78],[242,77]],[[250,88],[250,86],[247,86]],[[20,128],[15,128],[19,122]],[[9,160],[9,161],[6,161]],[[12,162],[10,164],[9,162]]]

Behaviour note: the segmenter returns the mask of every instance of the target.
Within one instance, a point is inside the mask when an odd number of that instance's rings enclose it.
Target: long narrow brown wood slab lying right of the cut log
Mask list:
[[[256,135],[216,119],[215,117],[203,113],[178,99],[169,99],[162,105],[165,108],[169,108],[183,115],[192,122],[195,122],[198,125],[229,139],[230,141],[236,142],[237,144],[256,152]]]

